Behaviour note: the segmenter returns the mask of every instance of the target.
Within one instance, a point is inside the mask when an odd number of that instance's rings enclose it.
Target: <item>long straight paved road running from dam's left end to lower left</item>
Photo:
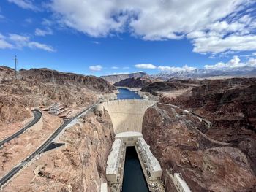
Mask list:
[[[31,155],[29,155],[26,159],[24,159],[23,161],[20,162],[20,164],[18,164],[17,166],[15,166],[14,168],[12,168],[12,170],[5,174],[4,177],[1,177],[0,179],[0,187],[4,186],[7,184],[7,182],[13,177],[15,176],[15,174],[17,174],[21,169],[23,169],[23,167],[26,166],[26,164],[28,164],[33,158],[35,158],[37,155],[39,155],[40,153],[43,153],[44,150],[48,147],[48,145],[50,145],[51,142],[53,142],[53,139],[55,139],[60,133],[61,131],[64,130],[64,128],[75,118],[78,118],[80,115],[83,114],[83,112],[86,112],[88,110],[90,110],[92,107],[94,107],[95,105],[92,105],[91,107],[86,108],[86,110],[83,110],[82,112],[80,112],[78,115],[75,115],[74,118],[70,118],[69,120],[66,120],[39,148],[37,148],[37,150],[32,153]]]

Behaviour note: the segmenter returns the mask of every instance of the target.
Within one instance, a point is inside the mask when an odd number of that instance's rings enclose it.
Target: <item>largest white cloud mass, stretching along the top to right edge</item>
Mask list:
[[[145,40],[192,41],[196,53],[256,50],[249,0],[52,0],[59,21],[92,37],[128,30]],[[244,11],[244,12],[242,12]],[[254,44],[254,45],[253,45]]]

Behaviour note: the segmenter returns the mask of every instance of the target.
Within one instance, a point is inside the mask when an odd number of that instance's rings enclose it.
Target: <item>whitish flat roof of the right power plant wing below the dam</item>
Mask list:
[[[150,164],[152,171],[156,172],[162,170],[159,162],[157,161],[157,158],[155,158],[154,155],[151,153],[149,145],[146,144],[145,140],[143,138],[138,138],[138,143],[140,144],[140,147],[142,147],[143,152],[148,158],[148,163]]]

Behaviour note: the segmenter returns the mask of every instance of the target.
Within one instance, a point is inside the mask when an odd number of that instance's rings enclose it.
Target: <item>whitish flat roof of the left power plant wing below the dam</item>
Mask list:
[[[119,154],[121,153],[121,145],[122,140],[116,139],[113,142],[112,150],[108,155],[107,161],[107,174],[117,174],[118,173],[118,166],[119,166]]]

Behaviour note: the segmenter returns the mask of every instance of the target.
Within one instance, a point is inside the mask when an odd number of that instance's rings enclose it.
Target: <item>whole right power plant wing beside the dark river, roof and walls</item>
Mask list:
[[[157,158],[155,158],[154,155],[151,153],[149,145],[146,144],[145,140],[142,137],[138,138],[138,142],[136,142],[135,148],[138,151],[138,156],[140,156],[143,161],[140,162],[140,164],[142,163],[146,166],[148,179],[160,179],[162,177],[161,166],[157,161]]]

